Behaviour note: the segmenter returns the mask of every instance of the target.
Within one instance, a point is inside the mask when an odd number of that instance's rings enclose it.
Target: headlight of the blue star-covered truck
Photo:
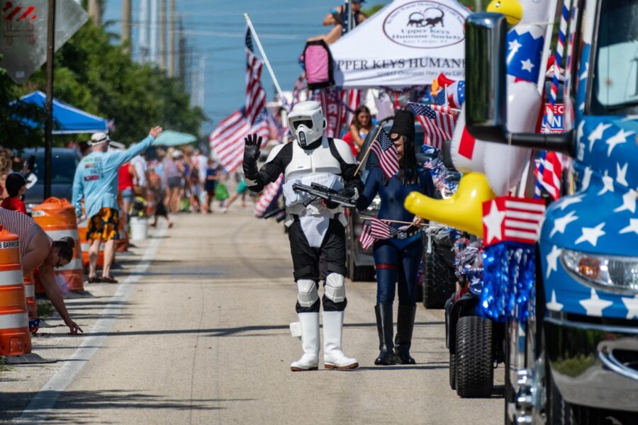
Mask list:
[[[588,254],[564,249],[561,261],[571,276],[613,293],[638,294],[638,258]]]

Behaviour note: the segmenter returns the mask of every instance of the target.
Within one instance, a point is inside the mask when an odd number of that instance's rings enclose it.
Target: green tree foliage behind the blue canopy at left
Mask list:
[[[1,66],[1,62],[0,62]],[[115,120],[111,137],[129,144],[144,137],[152,125],[198,135],[206,116],[191,108],[184,84],[169,78],[152,64],[133,62],[120,45],[113,45],[101,26],[86,23],[55,55],[56,98],[84,111]],[[0,104],[7,105],[34,90],[45,91],[44,67],[22,86],[0,76]],[[39,121],[43,123],[43,120]],[[2,128],[9,125],[15,137],[7,138]],[[18,125],[19,127],[20,125]],[[28,137],[22,133],[27,132]],[[40,137],[35,136],[40,134]],[[16,132],[15,120],[0,116],[0,141],[7,147],[43,144],[42,129]],[[86,138],[86,136],[81,136]],[[16,138],[20,138],[17,141]],[[69,137],[56,137],[64,144]]]

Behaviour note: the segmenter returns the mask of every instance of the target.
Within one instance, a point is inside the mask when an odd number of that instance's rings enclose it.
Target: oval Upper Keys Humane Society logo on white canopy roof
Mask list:
[[[391,11],[384,33],[399,45],[433,49],[455,45],[465,38],[465,17],[437,1],[412,1]]]

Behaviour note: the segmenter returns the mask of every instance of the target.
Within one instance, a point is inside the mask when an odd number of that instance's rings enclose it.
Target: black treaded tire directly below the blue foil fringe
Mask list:
[[[457,322],[456,375],[459,397],[490,397],[494,383],[494,337],[491,320],[461,317]]]

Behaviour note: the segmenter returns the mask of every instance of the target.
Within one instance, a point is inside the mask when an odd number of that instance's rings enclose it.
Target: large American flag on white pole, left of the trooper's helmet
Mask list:
[[[264,119],[266,92],[262,87],[262,60],[252,51],[250,29],[246,30],[246,104],[222,120],[208,138],[213,152],[226,169],[235,171],[242,164],[244,137],[249,134],[268,139],[269,125]]]

